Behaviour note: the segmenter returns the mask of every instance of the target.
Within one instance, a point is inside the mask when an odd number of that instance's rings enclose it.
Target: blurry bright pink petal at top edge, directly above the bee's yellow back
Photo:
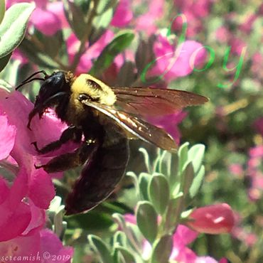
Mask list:
[[[130,0],[121,0],[112,18],[112,26],[124,28],[132,21],[132,6]]]

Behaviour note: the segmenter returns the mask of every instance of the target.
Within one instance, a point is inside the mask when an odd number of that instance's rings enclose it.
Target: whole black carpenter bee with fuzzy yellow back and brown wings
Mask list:
[[[39,73],[43,77],[36,77]],[[112,193],[127,167],[129,139],[139,138],[168,151],[176,149],[171,136],[147,122],[149,117],[172,114],[208,101],[182,90],[109,87],[91,75],[75,76],[66,71],[48,75],[42,70],[18,87],[33,80],[42,80],[43,84],[28,115],[28,129],[31,119],[36,114],[41,117],[48,108],[55,109],[58,118],[68,124],[58,141],[42,149],[33,142],[36,151],[47,154],[70,140],[80,145],[75,151],[36,167],[54,173],[84,165],[65,201],[66,215],[95,208]]]

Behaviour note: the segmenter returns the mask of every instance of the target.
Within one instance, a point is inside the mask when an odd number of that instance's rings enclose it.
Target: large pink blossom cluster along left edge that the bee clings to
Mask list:
[[[65,126],[52,114],[45,114],[41,122],[33,120],[31,131],[26,128],[31,109],[33,104],[20,92],[0,88],[0,165],[7,172],[0,175],[0,255],[14,257],[6,261],[16,262],[18,257],[38,254],[38,262],[51,262],[52,258],[41,256],[48,252],[67,256],[60,262],[70,262],[73,248],[63,247],[45,228],[45,210],[55,189],[50,175],[34,167],[48,157],[36,156],[31,145],[32,141],[43,145],[58,138]]]

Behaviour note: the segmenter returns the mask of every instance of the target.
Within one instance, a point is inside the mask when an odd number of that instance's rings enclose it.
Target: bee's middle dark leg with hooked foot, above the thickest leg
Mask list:
[[[82,131],[80,129],[77,129],[77,127],[75,126],[70,126],[68,127],[68,129],[65,129],[65,131],[63,131],[58,141],[52,141],[50,142],[50,144],[45,145],[41,149],[38,149],[38,144],[36,141],[32,142],[32,144],[33,146],[35,146],[35,149],[38,152],[38,154],[47,154],[50,151],[59,149],[60,146],[62,146],[63,144],[65,144],[70,140],[75,142],[80,142],[81,138],[82,138]]]

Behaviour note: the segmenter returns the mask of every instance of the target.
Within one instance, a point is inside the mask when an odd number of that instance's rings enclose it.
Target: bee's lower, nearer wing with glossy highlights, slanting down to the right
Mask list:
[[[107,115],[108,117],[114,119],[119,126],[127,130],[130,134],[142,139],[151,144],[155,144],[161,149],[167,151],[175,151],[176,144],[173,141],[173,138],[168,135],[163,129],[160,129],[144,120],[139,119],[136,116],[128,114],[124,111],[115,110],[111,107],[107,107],[104,104],[97,102],[89,102],[87,100],[82,100],[83,104],[86,104],[89,107],[97,109],[99,112]]]

